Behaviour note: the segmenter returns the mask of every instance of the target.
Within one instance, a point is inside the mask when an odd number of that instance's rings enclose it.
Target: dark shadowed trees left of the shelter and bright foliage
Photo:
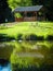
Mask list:
[[[14,21],[14,15],[6,1],[8,0],[0,0],[0,23]]]

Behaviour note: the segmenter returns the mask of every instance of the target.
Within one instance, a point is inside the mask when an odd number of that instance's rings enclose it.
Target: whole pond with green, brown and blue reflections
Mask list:
[[[0,43],[0,71],[53,71],[53,42]]]

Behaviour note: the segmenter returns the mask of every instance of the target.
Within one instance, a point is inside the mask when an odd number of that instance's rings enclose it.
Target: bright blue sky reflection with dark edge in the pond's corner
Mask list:
[[[0,59],[0,71],[11,71],[11,63],[9,60]]]

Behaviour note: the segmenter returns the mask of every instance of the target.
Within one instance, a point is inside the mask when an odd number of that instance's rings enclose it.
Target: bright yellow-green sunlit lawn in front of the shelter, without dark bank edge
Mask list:
[[[53,35],[53,22],[17,22],[0,26],[0,34],[17,37],[18,34],[37,36]]]

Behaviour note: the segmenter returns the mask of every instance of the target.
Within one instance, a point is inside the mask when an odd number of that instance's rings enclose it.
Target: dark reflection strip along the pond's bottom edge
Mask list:
[[[37,66],[28,66],[28,67],[23,67],[21,66],[21,68],[18,67],[18,64],[13,64],[12,67],[13,71],[53,71],[53,66],[49,66],[49,64],[41,64],[40,67]]]

